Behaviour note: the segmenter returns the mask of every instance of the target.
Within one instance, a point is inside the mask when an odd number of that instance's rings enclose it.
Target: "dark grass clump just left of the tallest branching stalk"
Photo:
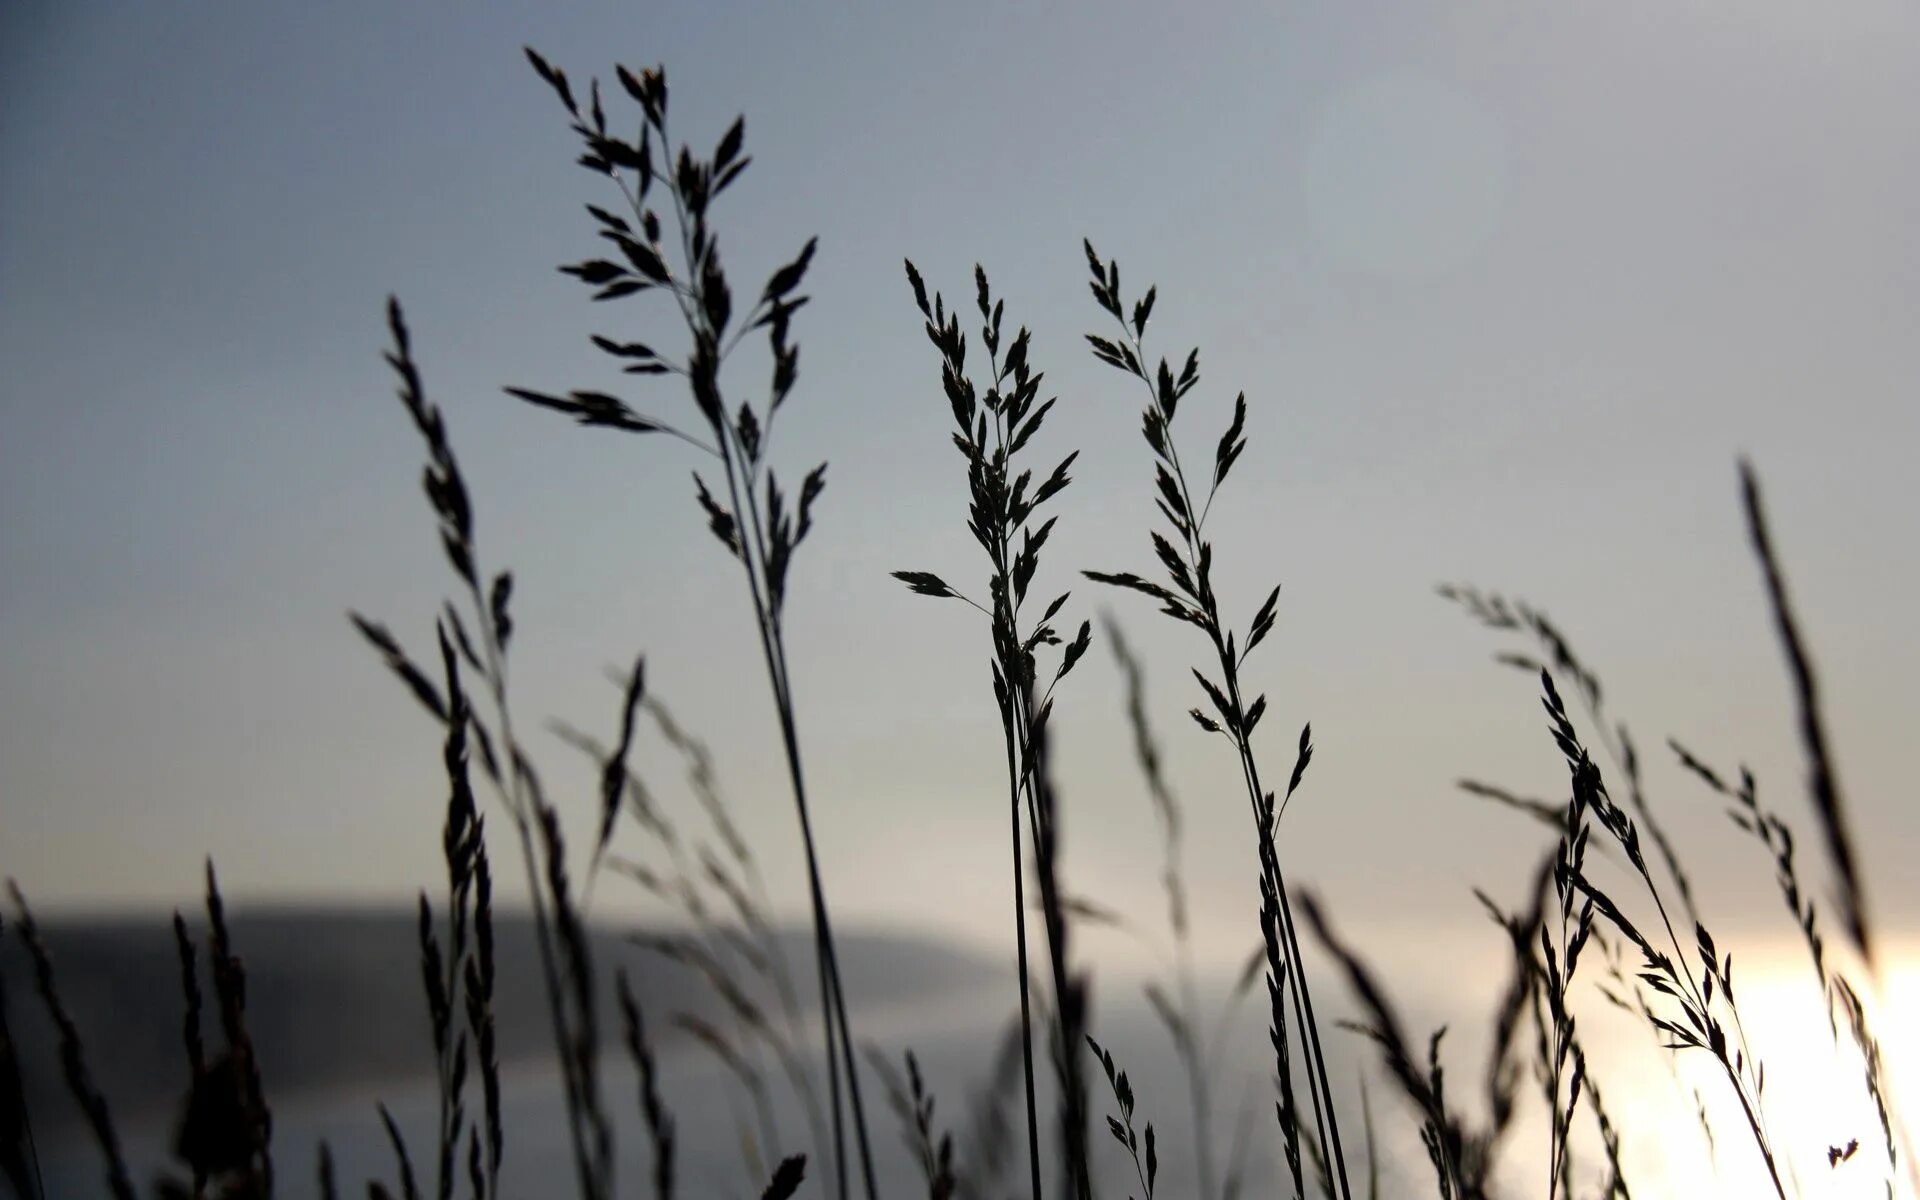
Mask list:
[[[436,1194],[451,1196],[455,1162],[465,1131],[468,1185],[474,1194],[497,1192],[499,1160],[505,1131],[499,1119],[499,1079],[492,1031],[492,877],[486,839],[472,787],[467,778],[467,749],[480,753],[482,774],[493,783],[515,829],[520,833],[522,862],[528,872],[528,891],[534,902],[534,925],[540,937],[541,973],[547,987],[553,1020],[555,1050],[561,1064],[566,1127],[574,1158],[576,1185],[586,1200],[605,1200],[612,1194],[612,1125],[601,1102],[599,1085],[599,1020],[597,985],[591,947],[586,935],[582,900],[566,870],[566,845],[559,810],[547,801],[532,760],[513,733],[507,701],[507,647],[513,632],[509,597],[513,578],[499,574],[482,588],[478,553],[472,536],[472,507],[459,472],[440,409],[424,397],[419,369],[413,363],[411,340],[399,305],[390,305],[394,351],[388,361],[401,378],[401,401],[424,436],[428,449],[426,493],[440,518],[442,545],[467,584],[470,620],[478,637],[468,634],[467,618],[457,605],[447,603],[440,622],[440,655],[444,689],[401,649],[399,641],[380,624],[353,614],[361,636],[374,645],[388,668],[407,685],[413,697],[436,716],[445,730],[442,751],[449,778],[447,820],[442,849],[449,879],[447,950],[432,918],[430,900],[420,897],[420,956],[428,995],[428,1016],[440,1075],[440,1142]],[[478,649],[476,649],[478,643]],[[493,697],[493,732],[467,701],[461,687],[461,662],[476,672]],[[636,660],[622,685],[618,739],[612,751],[601,755],[599,822],[593,841],[591,874],[607,856],[609,839],[618,812],[636,795],[636,780],[628,766],[636,720],[645,701],[643,662]],[[653,1142],[653,1183],[657,1200],[666,1200],[674,1188],[672,1119],[660,1102],[651,1044],[632,989],[620,977],[622,1018],[628,1050],[641,1073],[641,1117]],[[465,1002],[467,1027],[455,1027],[457,1008]],[[467,1077],[467,1037],[478,1046],[482,1066],[484,1127],[468,1123],[463,1110]],[[399,1127],[382,1108],[382,1123],[394,1144],[403,1196],[419,1194],[419,1179]],[[323,1158],[323,1162],[326,1162]],[[774,1169],[768,1196],[789,1196],[804,1175],[804,1156],[789,1156]],[[371,1194],[390,1194],[374,1181]]]

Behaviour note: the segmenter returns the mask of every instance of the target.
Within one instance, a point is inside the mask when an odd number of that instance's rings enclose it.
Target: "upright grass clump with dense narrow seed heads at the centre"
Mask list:
[[[966,369],[968,346],[966,334],[960,332],[960,313],[948,313],[947,301],[939,292],[933,294],[931,303],[927,301],[927,286],[912,261],[906,263],[906,280],[914,290],[914,303],[925,319],[927,340],[941,353],[941,384],[954,419],[952,440],[962,459],[966,459],[968,532],[989,561],[987,603],[981,605],[947,584],[941,576],[925,570],[897,570],[893,576],[920,595],[960,599],[989,620],[993,695],[1006,747],[1008,820],[1014,856],[1014,945],[1020,973],[1029,1179],[1033,1196],[1039,1200],[1043,1196],[1041,1139],[1033,1085],[1033,1016],[1027,972],[1021,808],[1027,814],[1027,829],[1031,831],[1035,860],[1041,868],[1041,908],[1046,922],[1046,943],[1052,962],[1054,1058],[1060,1068],[1068,1188],[1075,1196],[1085,1196],[1089,1188],[1085,1098],[1079,1069],[1073,1066],[1079,1046],[1077,1027],[1081,1025],[1077,1014],[1083,1010],[1083,1000],[1075,995],[1077,985],[1069,979],[1066,960],[1066,914],[1054,870],[1058,860],[1058,829],[1043,755],[1054,687],[1087,653],[1092,624],[1081,622],[1073,641],[1064,643],[1052,620],[1066,607],[1069,593],[1060,593],[1046,605],[1046,611],[1039,618],[1021,624],[1021,607],[1039,570],[1041,549],[1046,545],[1056,522],[1052,516],[1041,522],[1039,513],[1071,482],[1068,470],[1077,451],[1064,457],[1039,484],[1033,482],[1037,478],[1033,470],[1023,467],[1020,451],[1039,432],[1054,407],[1054,399],[1048,397],[1044,403],[1039,399],[1044,376],[1033,371],[1027,357],[1031,334],[1025,326],[1014,334],[1010,344],[1004,344],[1002,357],[1000,319],[1006,313],[1006,301],[993,298],[987,273],[977,265],[973,267],[975,305],[981,319],[979,338],[987,348],[985,392],[975,386]],[[1039,647],[1062,643],[1066,649],[1043,689],[1035,653]]]

